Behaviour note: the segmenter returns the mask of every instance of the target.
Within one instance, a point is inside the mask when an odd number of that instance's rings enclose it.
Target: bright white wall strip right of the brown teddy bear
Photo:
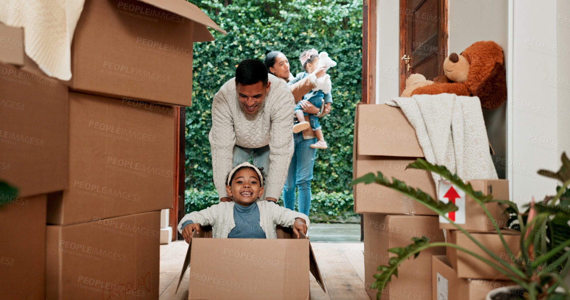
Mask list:
[[[543,199],[555,192],[556,181],[537,175],[556,170],[559,157],[556,1],[513,1],[512,24],[512,157],[504,162],[512,182],[511,198],[518,204],[532,196]],[[570,57],[565,57],[568,60]],[[552,146],[554,141],[554,146]]]

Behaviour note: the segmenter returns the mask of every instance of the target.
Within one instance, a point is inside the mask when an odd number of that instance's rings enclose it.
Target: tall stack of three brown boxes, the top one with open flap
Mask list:
[[[205,25],[217,28],[188,2],[86,1],[68,83],[69,187],[48,201],[50,299],[158,298],[160,210],[176,192],[172,106],[191,104],[193,43],[213,40]]]

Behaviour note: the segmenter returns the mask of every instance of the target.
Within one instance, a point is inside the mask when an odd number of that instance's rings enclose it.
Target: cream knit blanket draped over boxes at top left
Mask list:
[[[26,54],[47,75],[70,80],[71,40],[84,2],[85,0],[2,0],[0,22],[8,26],[24,27]]]

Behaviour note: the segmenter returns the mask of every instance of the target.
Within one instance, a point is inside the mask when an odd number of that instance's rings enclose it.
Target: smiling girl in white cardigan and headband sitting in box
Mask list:
[[[263,170],[263,169],[262,169]],[[276,225],[293,227],[307,233],[310,224],[304,213],[292,211],[272,201],[259,200],[263,194],[264,174],[248,162],[236,166],[227,174],[226,192],[234,199],[220,202],[201,211],[188,213],[178,223],[178,232],[186,243],[200,226],[212,226],[213,237],[242,239],[276,239]]]

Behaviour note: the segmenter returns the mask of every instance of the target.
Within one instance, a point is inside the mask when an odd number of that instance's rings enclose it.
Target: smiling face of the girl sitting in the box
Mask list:
[[[226,186],[227,195],[241,206],[249,206],[263,194],[259,175],[250,168],[244,168],[235,172],[230,183],[231,186]]]

